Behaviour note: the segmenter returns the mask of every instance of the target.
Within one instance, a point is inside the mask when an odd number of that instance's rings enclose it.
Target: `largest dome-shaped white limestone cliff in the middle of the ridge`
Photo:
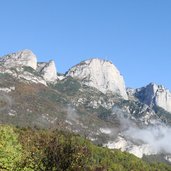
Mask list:
[[[114,93],[127,99],[125,83],[118,69],[109,61],[90,59],[71,68],[67,76],[81,80],[87,86],[97,88],[103,93]]]

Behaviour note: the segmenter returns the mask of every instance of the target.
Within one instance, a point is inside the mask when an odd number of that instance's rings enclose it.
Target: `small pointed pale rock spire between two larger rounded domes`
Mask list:
[[[48,63],[39,63],[38,71],[47,82],[54,82],[57,79],[55,62],[52,60]]]

